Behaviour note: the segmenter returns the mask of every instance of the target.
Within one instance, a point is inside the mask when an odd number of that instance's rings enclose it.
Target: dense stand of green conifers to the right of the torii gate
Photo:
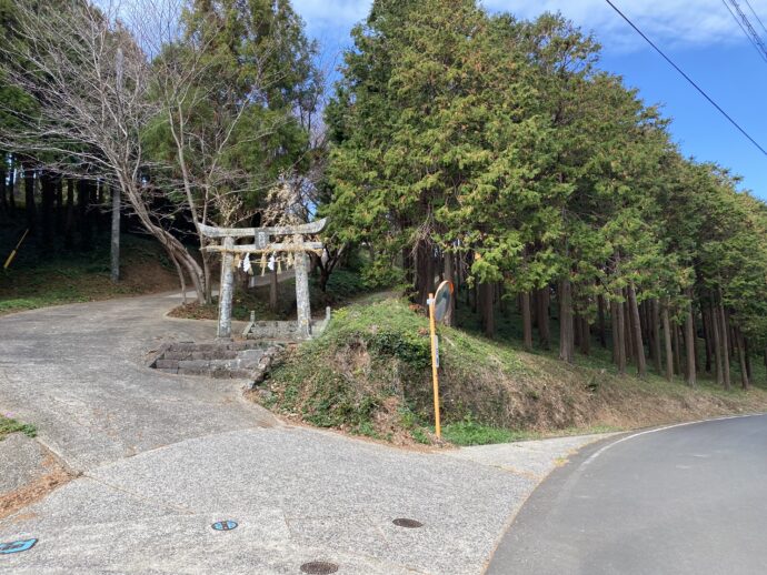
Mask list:
[[[726,168],[685,158],[668,119],[599,69],[596,39],[558,14],[489,14],[474,0],[373,2],[327,109],[326,206],[339,234],[401,265],[425,303],[437,275],[521,306],[526,347],[588,353],[727,387],[733,354],[767,336],[765,204]],[[550,312],[554,304],[556,310]],[[663,333],[663,335],[661,335]],[[661,365],[666,352],[668,364]],[[676,363],[676,365],[675,365]]]

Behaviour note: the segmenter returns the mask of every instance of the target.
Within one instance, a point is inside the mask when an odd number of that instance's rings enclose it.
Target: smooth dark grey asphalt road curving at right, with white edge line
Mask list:
[[[767,416],[582,451],[528,500],[488,573],[767,573]]]

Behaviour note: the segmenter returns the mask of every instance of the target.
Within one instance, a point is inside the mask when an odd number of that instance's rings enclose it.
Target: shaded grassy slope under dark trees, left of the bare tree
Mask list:
[[[123,235],[121,282],[109,279],[109,242],[87,254],[42,254],[27,250],[10,269],[0,269],[0,315],[62,303],[106,300],[178,288],[172,263],[156,242]],[[23,251],[23,249],[22,249]]]

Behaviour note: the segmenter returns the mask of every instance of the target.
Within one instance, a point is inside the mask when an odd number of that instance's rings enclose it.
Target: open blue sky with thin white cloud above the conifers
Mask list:
[[[767,26],[767,0],[749,2]],[[370,3],[370,0],[293,0],[308,33],[320,41],[328,67],[339,61],[340,52],[350,43],[349,30],[367,16]],[[614,0],[614,3],[767,149],[767,63],[721,0]],[[745,0],[739,3],[748,10]],[[560,11],[592,31],[604,47],[601,67],[622,75],[627,85],[638,88],[647,103],[663,104],[664,114],[674,120],[670,130],[685,154],[730,168],[743,175],[741,188],[767,200],[767,157],[604,0],[485,0],[484,6],[520,18],[534,18],[545,10]],[[758,22],[755,24],[758,27]]]

